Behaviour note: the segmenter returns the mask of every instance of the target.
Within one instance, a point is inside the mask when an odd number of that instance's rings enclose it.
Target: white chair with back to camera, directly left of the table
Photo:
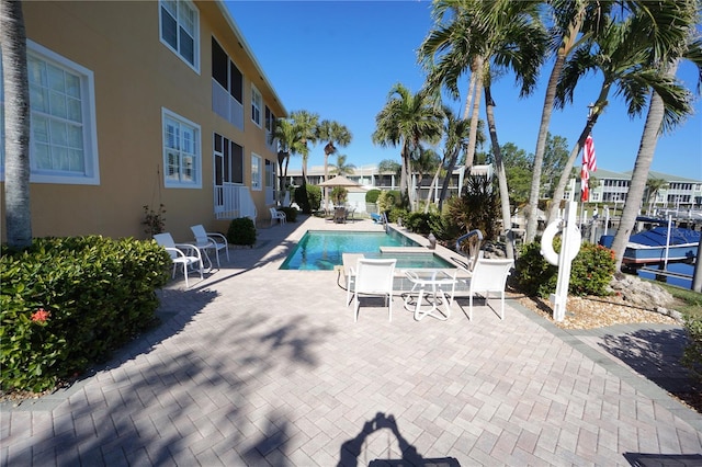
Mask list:
[[[355,270],[351,269],[348,287],[353,286],[353,322],[359,320],[361,303],[359,295],[385,297],[388,310],[388,321],[393,321],[393,278],[395,276],[396,259],[373,260],[359,258]],[[347,306],[349,301],[347,300]]]

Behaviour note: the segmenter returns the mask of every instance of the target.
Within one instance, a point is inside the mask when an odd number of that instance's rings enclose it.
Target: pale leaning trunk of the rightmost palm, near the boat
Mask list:
[[[677,70],[678,61],[670,66],[668,76],[675,77]],[[641,137],[638,152],[636,153],[636,162],[634,162],[634,171],[632,172],[626,202],[622,210],[622,218],[620,219],[616,235],[614,235],[614,240],[612,241],[612,250],[614,250],[615,259],[614,271],[620,271],[622,267],[626,243],[636,224],[636,216],[638,215],[644,192],[646,191],[648,170],[650,169],[650,164],[654,161],[654,153],[656,152],[664,114],[665,105],[663,99],[654,92],[650,96],[650,105],[648,106],[644,133]]]

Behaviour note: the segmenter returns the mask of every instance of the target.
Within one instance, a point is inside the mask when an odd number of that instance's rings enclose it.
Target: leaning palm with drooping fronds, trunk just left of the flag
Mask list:
[[[661,3],[670,5],[675,1],[666,0]],[[644,4],[648,3],[644,2]],[[559,201],[563,200],[566,184],[570,178],[570,170],[585,139],[609,104],[609,93],[612,89],[616,90],[618,95],[624,98],[627,103],[627,113],[631,116],[642,113],[649,89],[654,89],[661,95],[669,117],[678,112],[684,113],[683,110],[678,109],[680,105],[684,105],[683,90],[665,73],[646,65],[649,62],[649,49],[653,43],[650,36],[641,34],[641,30],[642,22],[650,22],[650,20],[652,16],[647,9],[636,10],[623,20],[605,16],[602,20],[604,24],[601,33],[591,41],[593,53],[586,47],[578,48],[565,65],[558,82],[556,107],[563,107],[566,102],[573,102],[575,86],[586,73],[600,71],[603,79],[599,95],[590,107],[582,132],[570,151],[564,172],[554,191],[553,203],[548,209],[550,221],[556,218]]]

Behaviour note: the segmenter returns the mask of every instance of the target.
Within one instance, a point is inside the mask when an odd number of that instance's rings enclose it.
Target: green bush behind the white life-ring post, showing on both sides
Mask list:
[[[554,250],[561,250],[561,238],[554,241]],[[599,244],[582,243],[570,265],[568,293],[577,296],[608,295],[607,288],[614,275],[612,250]],[[556,291],[558,267],[541,255],[541,241],[524,244],[514,264],[514,281],[526,295],[547,297]]]

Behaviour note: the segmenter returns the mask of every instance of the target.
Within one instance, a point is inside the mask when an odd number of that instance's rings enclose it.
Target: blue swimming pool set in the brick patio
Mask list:
[[[388,234],[307,230],[280,269],[331,271],[335,266],[342,264],[343,253],[363,253],[366,258],[397,258],[399,269],[455,267],[429,250],[412,253],[381,253],[381,247],[420,246],[392,229]]]

